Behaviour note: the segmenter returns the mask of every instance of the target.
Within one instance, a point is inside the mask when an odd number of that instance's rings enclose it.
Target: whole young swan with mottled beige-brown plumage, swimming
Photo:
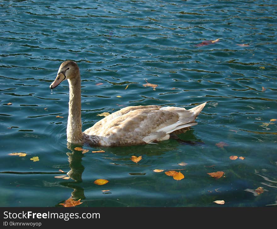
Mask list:
[[[195,118],[206,105],[202,103],[186,110],[182,107],[157,105],[128,106],[96,122],[82,132],[81,76],[74,61],[64,61],[50,89],[67,79],[69,83],[69,110],[67,141],[89,146],[128,146],[168,140],[197,123]],[[183,132],[184,132],[183,131]]]

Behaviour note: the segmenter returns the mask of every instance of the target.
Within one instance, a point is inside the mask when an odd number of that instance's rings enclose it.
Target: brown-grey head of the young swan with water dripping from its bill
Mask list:
[[[59,67],[56,79],[50,85],[50,89],[54,89],[66,79],[72,79],[80,75],[78,65],[74,61],[64,61]]]

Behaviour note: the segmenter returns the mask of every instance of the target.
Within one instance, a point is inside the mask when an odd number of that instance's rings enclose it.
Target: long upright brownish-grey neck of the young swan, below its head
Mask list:
[[[69,109],[67,122],[67,141],[82,143],[82,120],[81,120],[81,77],[80,74],[69,83]]]

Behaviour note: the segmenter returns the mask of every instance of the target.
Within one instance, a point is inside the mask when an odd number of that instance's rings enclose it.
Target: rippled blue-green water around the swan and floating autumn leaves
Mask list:
[[[77,207],[276,205],[275,1],[0,4],[0,206],[62,207],[71,196]],[[65,60],[81,70],[83,130],[124,106],[207,101],[198,125],[179,136],[202,145],[68,148],[68,83],[49,89]],[[184,168],[179,181],[164,173]],[[59,169],[75,180],[54,178]],[[207,174],[217,171],[223,177]],[[99,178],[109,182],[94,184]]]

